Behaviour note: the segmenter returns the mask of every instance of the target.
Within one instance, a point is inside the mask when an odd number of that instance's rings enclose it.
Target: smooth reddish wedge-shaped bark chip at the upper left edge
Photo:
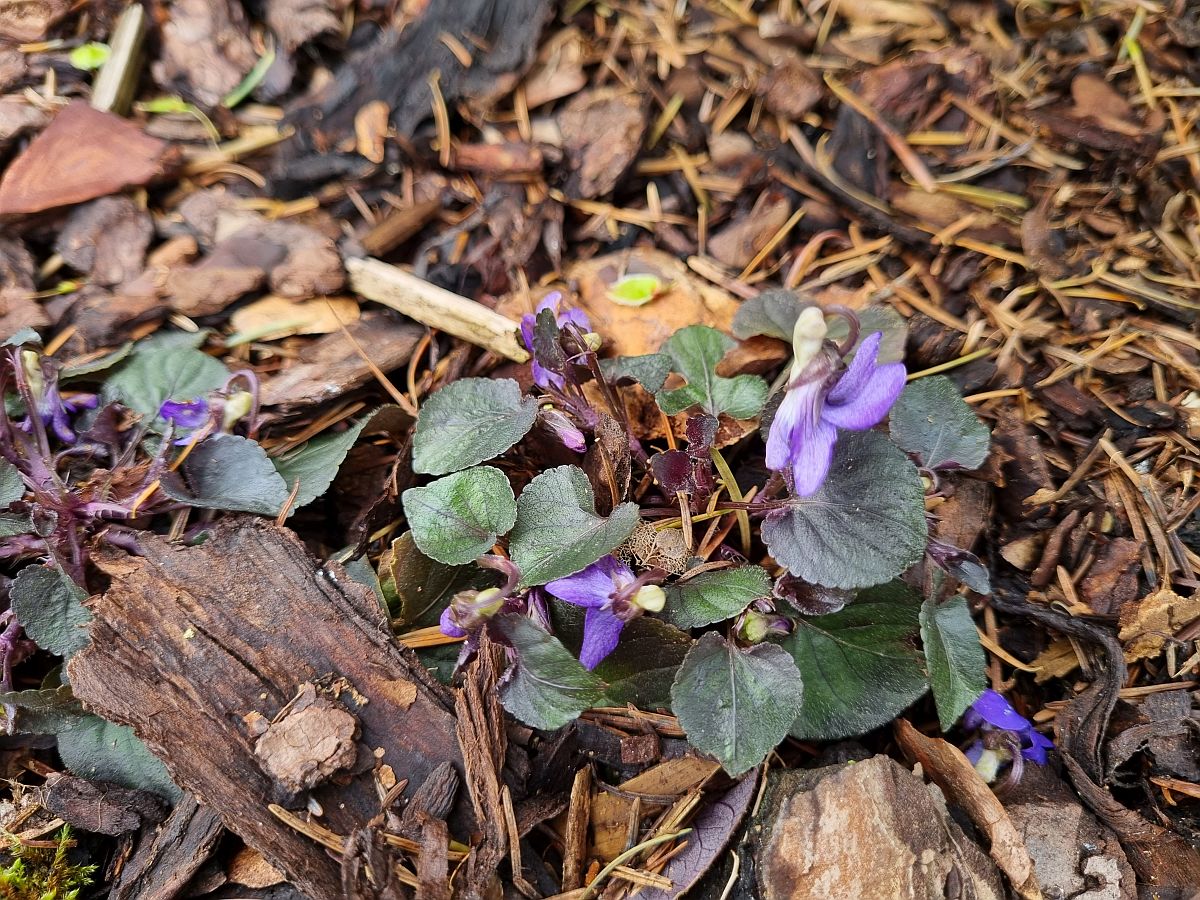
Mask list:
[[[119,115],[74,101],[0,180],[0,216],[41,212],[145,185],[168,167],[168,145]]]

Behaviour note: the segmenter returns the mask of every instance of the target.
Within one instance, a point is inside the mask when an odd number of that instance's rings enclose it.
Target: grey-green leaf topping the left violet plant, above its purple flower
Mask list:
[[[221,388],[229,378],[220,360],[191,347],[137,349],[101,391],[106,403],[120,402],[140,413],[146,427],[162,431],[158,408],[168,400],[188,401]]]

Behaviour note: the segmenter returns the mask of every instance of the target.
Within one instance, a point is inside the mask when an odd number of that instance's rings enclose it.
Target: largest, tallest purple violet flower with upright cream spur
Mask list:
[[[838,430],[865,431],[878,425],[907,377],[902,362],[876,361],[881,331],[866,337],[851,364],[839,371],[853,346],[857,320],[851,319],[851,337],[841,348],[827,344],[827,332],[818,307],[806,307],[796,319],[787,392],[767,437],[768,468],[790,473],[799,497],[812,496],[824,484]]]

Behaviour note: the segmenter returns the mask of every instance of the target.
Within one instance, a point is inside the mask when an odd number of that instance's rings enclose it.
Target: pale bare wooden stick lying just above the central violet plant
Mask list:
[[[367,300],[390,306],[422,325],[461,337],[514,362],[529,359],[517,337],[517,323],[474,300],[378,259],[347,259],[346,270],[350,275],[350,287]]]

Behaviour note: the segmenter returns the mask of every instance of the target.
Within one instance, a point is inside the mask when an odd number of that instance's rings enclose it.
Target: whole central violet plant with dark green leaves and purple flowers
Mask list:
[[[406,571],[428,586],[430,572],[478,571],[480,548],[511,560],[503,588],[446,598],[440,629],[467,642],[460,662],[482,635],[508,648],[502,700],[527,724],[668,709],[738,774],[788,737],[870,731],[930,689],[948,730],[983,692],[970,605],[953,592],[955,560],[973,557],[931,538],[926,496],[983,463],[986,428],[944,379],[908,382],[898,317],[790,301],[785,331],[764,302],[748,301],[734,331],[770,319],[791,342],[772,402],[762,378],[718,372],[734,341],[714,329],[601,359],[588,318],[554,294],[522,322],[533,396],[463,378],[422,404],[413,468],[428,480],[403,496]],[[677,445],[647,445],[624,414],[630,391],[674,416]],[[624,438],[601,436],[605,421]],[[539,472],[551,436],[586,468]],[[412,577],[394,566],[389,589]]]

